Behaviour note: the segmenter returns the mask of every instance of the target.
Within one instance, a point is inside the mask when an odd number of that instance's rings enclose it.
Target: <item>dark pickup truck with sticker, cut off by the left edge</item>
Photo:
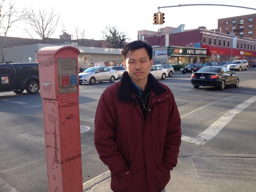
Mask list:
[[[0,92],[29,94],[39,91],[38,63],[0,62]]]

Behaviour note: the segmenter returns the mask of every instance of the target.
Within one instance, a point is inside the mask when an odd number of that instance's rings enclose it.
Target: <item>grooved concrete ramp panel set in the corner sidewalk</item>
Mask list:
[[[195,157],[191,163],[197,179],[256,181],[256,158]]]

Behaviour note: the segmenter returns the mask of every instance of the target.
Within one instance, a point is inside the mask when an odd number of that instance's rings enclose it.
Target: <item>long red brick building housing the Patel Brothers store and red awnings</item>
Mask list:
[[[167,40],[167,42],[166,42]],[[204,48],[207,50],[206,57],[186,56],[185,55],[161,55],[168,57],[167,62],[172,65],[184,65],[200,61],[228,61],[245,59],[249,65],[256,61],[256,40],[237,36],[236,47],[233,47],[233,57],[231,58],[232,36],[226,33],[214,32],[200,29],[188,30],[180,33],[167,35],[158,35],[145,38],[149,44],[154,47],[167,48],[169,46]],[[183,49],[183,48],[181,48]],[[178,49],[179,50],[179,49]]]

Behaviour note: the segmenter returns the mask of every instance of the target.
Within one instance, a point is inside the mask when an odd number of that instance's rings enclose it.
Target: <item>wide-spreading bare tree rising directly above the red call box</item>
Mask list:
[[[31,26],[32,31],[35,31],[37,35],[43,40],[43,43],[46,43],[46,40],[52,33],[56,30],[60,15],[54,13],[54,8],[50,12],[42,11],[39,8],[39,12],[35,13],[33,9],[27,14],[27,23]],[[33,35],[30,33],[29,29],[26,29],[28,35],[33,38]]]

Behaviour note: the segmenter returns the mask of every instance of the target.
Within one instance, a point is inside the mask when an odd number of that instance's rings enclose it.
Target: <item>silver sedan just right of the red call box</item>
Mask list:
[[[90,67],[83,73],[79,73],[79,84],[110,81],[114,82],[118,79],[117,72],[107,67]]]

